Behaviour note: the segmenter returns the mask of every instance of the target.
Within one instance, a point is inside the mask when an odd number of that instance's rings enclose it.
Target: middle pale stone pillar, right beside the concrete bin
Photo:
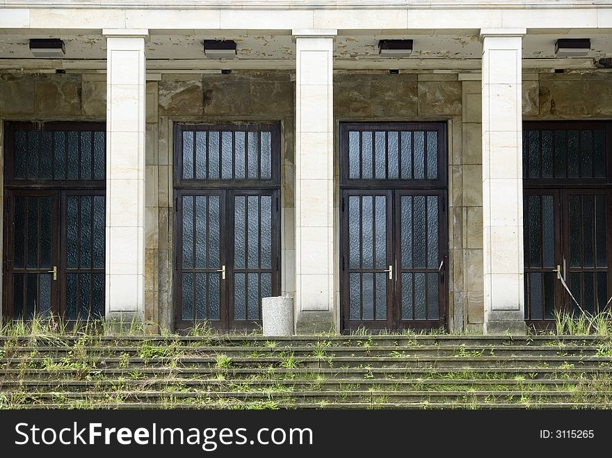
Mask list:
[[[298,334],[328,332],[334,319],[333,39],[296,38],[296,311]]]

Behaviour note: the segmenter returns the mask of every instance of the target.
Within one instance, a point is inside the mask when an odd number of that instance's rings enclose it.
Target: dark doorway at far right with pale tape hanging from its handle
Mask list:
[[[535,327],[551,324],[555,311],[593,314],[609,304],[610,127],[524,123],[525,318]]]

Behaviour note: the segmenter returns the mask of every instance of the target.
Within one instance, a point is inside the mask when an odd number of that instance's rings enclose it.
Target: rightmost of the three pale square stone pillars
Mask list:
[[[483,29],[486,334],[524,334],[521,48],[524,28]]]

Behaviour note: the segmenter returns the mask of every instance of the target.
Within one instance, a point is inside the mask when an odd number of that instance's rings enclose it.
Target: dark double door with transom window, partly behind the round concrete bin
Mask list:
[[[178,124],[175,325],[254,329],[280,292],[277,124]]]

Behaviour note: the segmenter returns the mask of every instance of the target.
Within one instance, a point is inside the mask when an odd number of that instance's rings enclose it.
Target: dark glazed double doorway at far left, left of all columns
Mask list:
[[[5,318],[104,317],[105,129],[6,124]]]

